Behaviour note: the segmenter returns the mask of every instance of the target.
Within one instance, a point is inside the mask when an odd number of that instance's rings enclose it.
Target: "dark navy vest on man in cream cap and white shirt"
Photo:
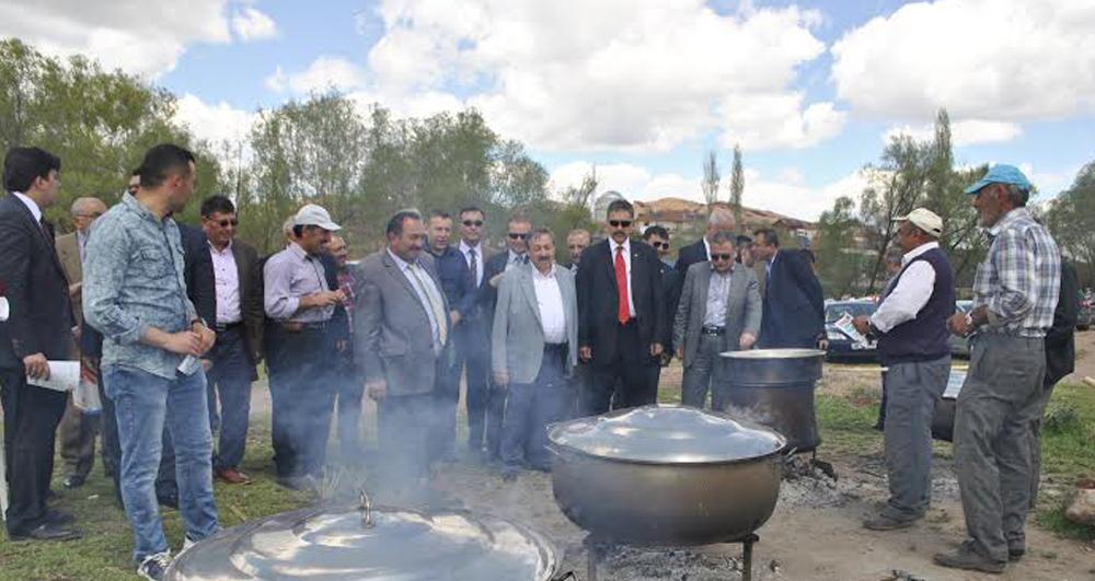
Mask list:
[[[909,262],[889,286],[887,295],[897,288],[910,266],[924,262],[935,269],[935,286],[927,304],[917,317],[906,321],[878,338],[878,359],[884,365],[931,361],[950,353],[947,317],[955,312],[954,271],[938,248],[932,248]],[[885,300],[885,298],[884,298]]]

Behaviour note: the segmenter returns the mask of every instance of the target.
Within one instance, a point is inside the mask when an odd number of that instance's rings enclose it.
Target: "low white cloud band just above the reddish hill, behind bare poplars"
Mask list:
[[[551,172],[550,187],[554,191],[561,191],[568,186],[577,186],[589,173],[590,167],[591,164],[584,161],[560,165]],[[785,170],[774,177],[766,176],[752,167],[746,167],[744,174],[746,178],[746,189],[741,196],[744,206],[803,220],[817,220],[821,212],[832,208],[840,196],[857,200],[867,184],[863,171],[853,172],[821,187],[809,187],[804,184],[802,175],[795,169]],[[702,202],[704,199],[699,176],[691,177],[678,173],[655,174],[646,167],[630,163],[597,165],[597,181],[598,194],[614,189],[633,200],[673,197]],[[719,198],[725,200],[727,198],[725,186],[723,189]]]

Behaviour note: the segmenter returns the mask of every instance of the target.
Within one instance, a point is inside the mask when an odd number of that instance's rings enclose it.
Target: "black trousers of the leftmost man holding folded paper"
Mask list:
[[[24,373],[0,369],[9,535],[27,533],[45,522],[57,425],[68,398],[64,392],[27,385]]]

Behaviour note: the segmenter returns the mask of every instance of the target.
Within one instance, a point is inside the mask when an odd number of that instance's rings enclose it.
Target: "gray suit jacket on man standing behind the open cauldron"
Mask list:
[[[673,322],[673,345],[684,347],[684,367],[692,365],[700,346],[700,332],[707,313],[707,287],[711,283],[711,263],[696,263],[689,267],[681,290],[680,304]],[[730,297],[726,304],[726,334],[723,351],[737,351],[742,333],[757,337],[763,303],[760,283],[751,268],[734,265],[730,277]]]

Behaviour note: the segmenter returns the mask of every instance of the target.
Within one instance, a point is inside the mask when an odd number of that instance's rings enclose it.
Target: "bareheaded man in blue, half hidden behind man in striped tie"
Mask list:
[[[449,244],[452,235],[452,217],[447,212],[435,211],[429,216],[427,229],[429,243],[427,252],[434,257],[437,276],[441,280],[441,290],[449,301],[449,317],[456,329],[465,317],[472,317],[477,307],[475,301],[475,284],[472,281],[471,268],[464,255]],[[459,330],[454,330],[459,336]],[[460,361],[457,359],[457,345],[449,351],[452,356],[447,369],[437,382],[437,422],[431,439],[430,453],[436,458],[456,460],[457,442],[457,405],[460,403]]]

